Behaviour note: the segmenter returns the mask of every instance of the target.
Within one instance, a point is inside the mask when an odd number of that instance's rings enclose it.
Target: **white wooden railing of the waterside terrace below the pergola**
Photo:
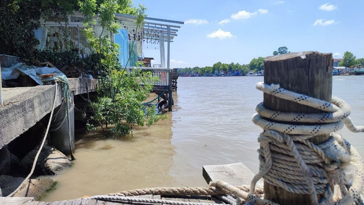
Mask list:
[[[133,68],[150,70],[152,72],[152,76],[157,76],[159,79],[157,82],[153,83],[155,86],[169,86],[171,84],[173,68],[127,67],[128,72],[130,72]]]

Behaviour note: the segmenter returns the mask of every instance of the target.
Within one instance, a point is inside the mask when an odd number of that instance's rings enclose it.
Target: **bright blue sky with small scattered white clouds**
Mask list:
[[[171,43],[174,68],[247,64],[281,46],[331,52],[335,58],[351,51],[364,58],[363,0],[134,0],[138,3],[149,17],[185,21]],[[159,64],[159,50],[144,54]]]

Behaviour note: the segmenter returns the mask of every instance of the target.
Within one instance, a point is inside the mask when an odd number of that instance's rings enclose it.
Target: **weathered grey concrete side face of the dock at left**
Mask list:
[[[96,91],[97,80],[70,78],[74,95]],[[62,89],[58,86],[56,106],[62,103]],[[50,113],[55,85],[3,88],[4,105],[0,106],[0,148],[35,125]]]

